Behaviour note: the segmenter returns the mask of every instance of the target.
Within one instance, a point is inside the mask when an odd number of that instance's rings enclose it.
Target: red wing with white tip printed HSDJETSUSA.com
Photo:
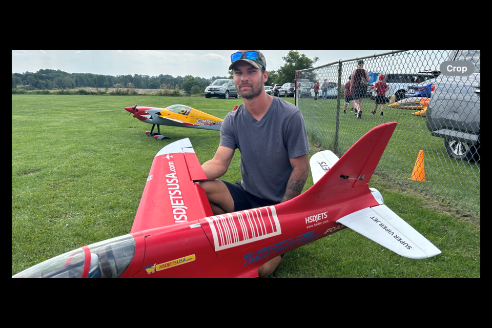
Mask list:
[[[190,139],[162,148],[154,157],[131,232],[212,216],[205,191],[194,183],[204,180],[207,176]]]

